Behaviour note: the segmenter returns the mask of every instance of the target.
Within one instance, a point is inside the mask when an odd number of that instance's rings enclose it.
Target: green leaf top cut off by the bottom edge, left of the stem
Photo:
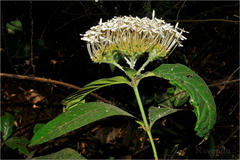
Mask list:
[[[86,158],[71,148],[64,148],[56,153],[40,157],[34,157],[33,159],[86,159]]]

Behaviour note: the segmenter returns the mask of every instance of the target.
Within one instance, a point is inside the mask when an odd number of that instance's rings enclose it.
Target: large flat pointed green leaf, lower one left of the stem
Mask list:
[[[40,128],[34,134],[30,145],[47,142],[94,121],[117,115],[133,117],[133,115],[110,104],[97,102],[78,104]]]

